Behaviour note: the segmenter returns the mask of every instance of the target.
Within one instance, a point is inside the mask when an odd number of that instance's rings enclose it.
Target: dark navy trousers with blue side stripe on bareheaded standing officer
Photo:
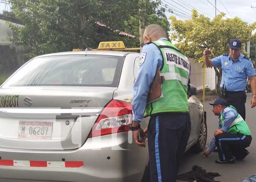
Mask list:
[[[151,182],[176,182],[190,131],[189,113],[151,116],[147,134]]]

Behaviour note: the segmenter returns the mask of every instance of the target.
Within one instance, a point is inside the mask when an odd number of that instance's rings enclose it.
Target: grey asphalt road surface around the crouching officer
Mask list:
[[[207,172],[219,173],[221,177],[216,177],[214,179],[215,181],[221,182],[240,182],[243,178],[256,174],[256,107],[249,107],[251,98],[252,93],[248,93],[245,107],[246,122],[252,132],[253,139],[251,146],[247,148],[250,151],[250,154],[244,159],[244,161],[236,161],[235,164],[217,164],[215,163],[215,159],[218,158],[218,153],[211,153],[208,157],[202,157],[202,153],[195,154],[188,151],[182,159],[179,174],[190,171],[193,165],[200,166]],[[207,101],[205,104],[208,129],[206,145],[210,146],[211,138],[218,126],[218,116],[213,114],[212,106],[208,103],[211,103],[211,101]],[[181,181],[177,180],[177,182]]]

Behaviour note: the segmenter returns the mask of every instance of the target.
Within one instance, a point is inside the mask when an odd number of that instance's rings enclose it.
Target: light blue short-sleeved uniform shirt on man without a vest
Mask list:
[[[213,58],[212,63],[222,68],[221,87],[224,85],[227,91],[245,91],[247,76],[255,76],[251,60],[245,59],[241,53],[234,62],[229,54]]]

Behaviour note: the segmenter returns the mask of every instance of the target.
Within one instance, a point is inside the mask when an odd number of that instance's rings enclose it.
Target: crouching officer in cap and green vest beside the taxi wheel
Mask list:
[[[248,125],[233,106],[227,106],[225,99],[218,98],[210,105],[213,106],[214,114],[219,116],[219,126],[211,140],[209,150],[204,152],[204,157],[210,155],[217,146],[219,159],[215,161],[216,163],[234,163],[235,158],[243,160],[249,154],[245,148],[252,142]]]

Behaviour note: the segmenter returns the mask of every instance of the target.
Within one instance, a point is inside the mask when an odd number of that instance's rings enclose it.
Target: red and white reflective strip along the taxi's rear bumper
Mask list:
[[[0,159],[0,166],[23,167],[83,167],[83,161],[17,161]]]

